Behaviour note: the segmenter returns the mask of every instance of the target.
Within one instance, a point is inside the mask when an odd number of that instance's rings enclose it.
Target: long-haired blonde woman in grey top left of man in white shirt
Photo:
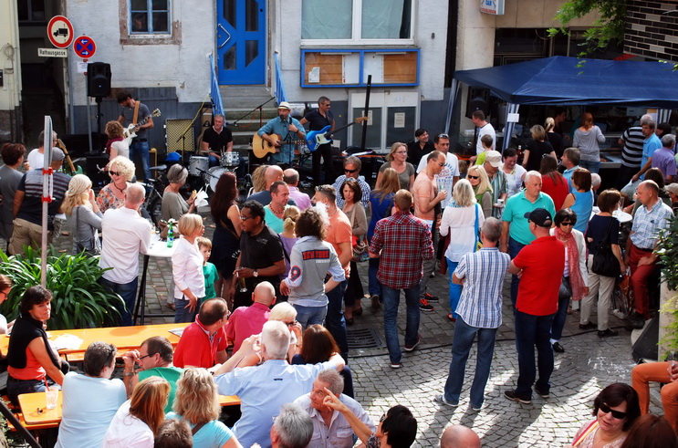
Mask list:
[[[68,190],[61,208],[66,214],[66,224],[73,235],[73,255],[82,251],[97,255],[101,247],[98,231],[101,230],[99,205],[94,198],[92,181],[85,174],[76,174],[68,182]]]

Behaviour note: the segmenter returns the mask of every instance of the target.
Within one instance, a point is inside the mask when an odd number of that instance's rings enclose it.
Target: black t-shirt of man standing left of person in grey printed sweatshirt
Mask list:
[[[264,229],[254,237],[246,232],[240,235],[240,266],[262,269],[275,265],[284,257],[280,237],[266,224],[264,224]],[[252,288],[264,281],[276,286],[280,284],[280,276],[257,276],[246,279],[247,287]]]

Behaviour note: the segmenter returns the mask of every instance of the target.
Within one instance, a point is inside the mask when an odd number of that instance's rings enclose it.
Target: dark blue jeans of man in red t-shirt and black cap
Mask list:
[[[548,382],[553,373],[553,349],[549,342],[554,314],[533,316],[518,310],[516,316],[516,351],[518,352],[518,383],[516,395],[523,399],[532,397],[532,385],[537,378],[535,368],[535,346],[537,346],[537,368],[539,391],[548,392]]]

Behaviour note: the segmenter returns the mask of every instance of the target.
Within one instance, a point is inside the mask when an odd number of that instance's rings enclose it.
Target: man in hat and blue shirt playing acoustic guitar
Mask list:
[[[306,137],[306,132],[301,123],[289,116],[291,110],[287,101],[281,101],[277,107],[278,116],[269,120],[256,132],[259,137],[276,147],[276,152],[271,153],[271,162],[277,165],[287,165],[287,167],[292,164],[294,159],[296,144],[294,134],[297,134],[298,139],[302,141]],[[278,135],[282,141],[278,141]],[[289,143],[286,143],[286,141],[289,141]]]

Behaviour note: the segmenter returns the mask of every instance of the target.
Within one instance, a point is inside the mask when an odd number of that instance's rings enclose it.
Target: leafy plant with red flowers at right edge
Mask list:
[[[669,290],[678,290],[678,217],[669,220],[669,227],[659,233],[657,249],[662,267],[662,278]],[[678,351],[678,296],[669,298],[662,306],[663,313],[673,314],[673,322],[665,328],[667,336],[659,341],[667,349]]]

